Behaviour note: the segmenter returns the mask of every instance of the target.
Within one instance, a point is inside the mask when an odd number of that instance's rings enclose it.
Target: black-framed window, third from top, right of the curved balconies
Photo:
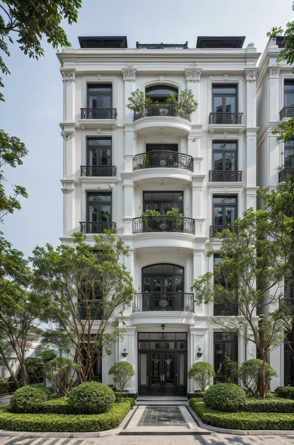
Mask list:
[[[213,225],[232,226],[237,218],[236,196],[213,196]]]

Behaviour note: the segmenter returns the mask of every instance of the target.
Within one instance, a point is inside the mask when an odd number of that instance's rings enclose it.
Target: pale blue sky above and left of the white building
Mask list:
[[[127,36],[128,47],[140,43],[184,43],[196,46],[197,36],[246,36],[265,48],[266,32],[293,20],[291,0],[82,0],[78,23],[62,26],[72,46],[78,36]],[[12,37],[15,37],[12,35]],[[30,255],[36,246],[57,246],[62,236],[63,87],[55,51],[44,41],[45,57],[29,59],[10,44],[6,61],[11,72],[2,76],[5,103],[0,103],[0,128],[25,143],[24,165],[5,170],[13,184],[27,188],[22,209],[0,226],[13,247]]]

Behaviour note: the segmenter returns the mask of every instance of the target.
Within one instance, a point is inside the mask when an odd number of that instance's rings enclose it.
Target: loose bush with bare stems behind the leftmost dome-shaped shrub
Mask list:
[[[72,388],[73,374],[79,372],[81,365],[64,357],[56,357],[44,364],[43,373],[48,379],[57,396],[67,396],[68,391]]]

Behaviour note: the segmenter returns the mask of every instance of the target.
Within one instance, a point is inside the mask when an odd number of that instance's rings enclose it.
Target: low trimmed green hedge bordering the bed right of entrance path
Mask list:
[[[209,409],[199,399],[189,406],[207,425],[227,429],[294,429],[294,413],[222,413]]]

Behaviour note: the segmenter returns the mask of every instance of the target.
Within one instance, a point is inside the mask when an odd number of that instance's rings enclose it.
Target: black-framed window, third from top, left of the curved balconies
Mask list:
[[[88,193],[87,204],[90,223],[111,221],[111,193]]]

